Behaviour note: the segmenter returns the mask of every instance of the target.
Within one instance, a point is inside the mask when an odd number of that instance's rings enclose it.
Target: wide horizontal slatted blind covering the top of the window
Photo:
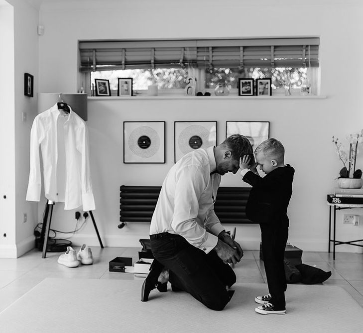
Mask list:
[[[271,64],[317,67],[319,43],[319,38],[80,41],[80,70],[183,65],[238,67],[242,64],[248,67],[270,67]]]

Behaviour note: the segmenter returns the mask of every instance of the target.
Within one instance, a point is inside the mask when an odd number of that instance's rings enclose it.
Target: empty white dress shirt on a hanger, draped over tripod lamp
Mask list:
[[[38,114],[30,131],[30,172],[26,200],[40,201],[43,160],[44,195],[64,202],[64,209],[94,210],[88,152],[88,132],[83,119],[72,111],[64,114],[57,104]]]

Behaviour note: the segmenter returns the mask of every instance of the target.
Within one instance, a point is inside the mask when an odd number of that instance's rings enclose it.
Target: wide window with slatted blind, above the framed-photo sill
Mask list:
[[[204,90],[221,83],[237,88],[240,77],[270,77],[279,89],[290,76],[292,88],[299,88],[319,67],[319,43],[318,37],[80,40],[79,70],[89,86],[109,79],[111,90],[118,77],[132,77],[136,91],[151,80],[159,89],[184,88],[190,76],[204,82]]]

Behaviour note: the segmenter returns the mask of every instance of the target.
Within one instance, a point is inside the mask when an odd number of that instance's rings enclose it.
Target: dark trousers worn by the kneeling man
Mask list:
[[[155,259],[169,269],[173,290],[188,292],[212,310],[224,309],[230,301],[226,286],[236,283],[236,274],[216,251],[206,254],[184,237],[170,233],[150,235],[150,240]]]

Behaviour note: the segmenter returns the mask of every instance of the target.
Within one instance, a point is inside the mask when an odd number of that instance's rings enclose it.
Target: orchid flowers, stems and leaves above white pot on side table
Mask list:
[[[340,177],[338,178],[361,178],[362,170],[356,170],[356,160],[358,153],[358,145],[363,142],[363,129],[361,133],[354,133],[347,136],[347,140],[349,142],[349,155],[344,150],[342,143],[338,138],[333,136],[333,143],[337,148],[337,154],[339,155],[339,159],[342,161],[344,167],[340,170]],[[348,168],[347,168],[348,163]]]

